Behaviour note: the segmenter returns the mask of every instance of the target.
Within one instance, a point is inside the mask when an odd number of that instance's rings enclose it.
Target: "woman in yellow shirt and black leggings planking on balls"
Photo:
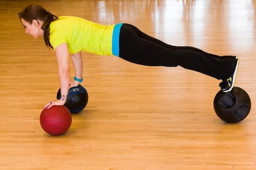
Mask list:
[[[47,47],[55,50],[61,99],[44,108],[64,105],[68,90],[82,81],[81,51],[98,55],[116,55],[124,60],[146,66],[182,66],[216,79],[221,79],[224,92],[232,90],[239,60],[236,56],[218,56],[189,46],[171,46],[141,32],[130,24],[100,25],[73,16],[56,17],[39,5],[29,5],[18,13],[26,33],[43,36]],[[70,80],[69,55],[75,68]]]

